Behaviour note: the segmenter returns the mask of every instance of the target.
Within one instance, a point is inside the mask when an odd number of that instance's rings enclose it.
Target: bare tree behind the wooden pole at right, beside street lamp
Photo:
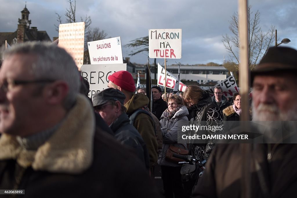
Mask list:
[[[249,68],[253,70],[256,66],[256,62],[262,58],[266,53],[271,43],[273,43],[274,30],[275,27],[271,25],[268,32],[263,32],[260,23],[260,12],[257,10],[255,15],[251,11],[251,6],[248,7],[248,35],[249,35]],[[233,36],[225,35],[223,36],[223,44],[227,51],[231,54],[229,55],[230,61],[238,70],[239,65],[239,25],[238,25],[238,12],[235,12],[231,16],[231,21],[229,21],[229,29]],[[234,61],[235,59],[235,61]]]

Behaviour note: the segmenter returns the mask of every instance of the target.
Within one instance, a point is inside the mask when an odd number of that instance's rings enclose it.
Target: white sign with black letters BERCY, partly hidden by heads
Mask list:
[[[82,65],[80,70],[82,77],[90,84],[89,97],[92,99],[96,92],[108,88],[108,76],[127,69],[127,64],[105,64],[105,65]]]

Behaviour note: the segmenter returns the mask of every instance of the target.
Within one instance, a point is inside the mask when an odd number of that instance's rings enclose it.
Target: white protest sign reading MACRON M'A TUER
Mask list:
[[[181,29],[149,29],[150,58],[181,58]]]

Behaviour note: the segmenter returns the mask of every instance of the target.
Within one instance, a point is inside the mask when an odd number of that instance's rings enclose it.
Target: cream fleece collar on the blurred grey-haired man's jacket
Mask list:
[[[89,100],[78,95],[59,129],[37,151],[21,147],[15,136],[2,134],[0,160],[16,159],[22,167],[62,173],[81,173],[93,161],[94,112]]]

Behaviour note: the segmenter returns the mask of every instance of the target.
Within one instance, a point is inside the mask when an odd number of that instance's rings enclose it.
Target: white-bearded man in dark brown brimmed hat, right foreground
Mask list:
[[[290,124],[297,120],[297,51],[287,47],[271,47],[251,72],[253,121]],[[257,122],[265,123],[265,122]],[[267,122],[266,122],[267,123]],[[266,128],[262,133],[275,138]],[[260,130],[260,129],[257,129]],[[289,130],[289,129],[287,129]],[[285,130],[283,130],[285,131]],[[291,134],[296,129],[291,128]],[[290,138],[289,138],[290,139]],[[272,139],[273,140],[273,139]],[[251,144],[248,164],[250,183],[245,187],[250,197],[295,197],[297,188],[297,144],[286,143],[287,137],[271,144]],[[220,144],[214,148],[192,197],[241,197],[241,182],[245,159],[241,153],[244,144]]]

